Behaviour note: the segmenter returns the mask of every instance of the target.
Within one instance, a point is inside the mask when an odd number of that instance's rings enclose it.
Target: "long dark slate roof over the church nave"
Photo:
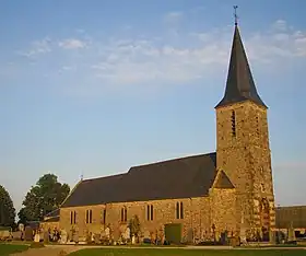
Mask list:
[[[207,196],[215,166],[215,152],[134,166],[125,174],[82,181],[61,207]]]

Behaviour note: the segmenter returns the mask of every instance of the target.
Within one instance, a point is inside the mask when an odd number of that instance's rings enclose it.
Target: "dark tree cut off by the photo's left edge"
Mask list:
[[[0,226],[13,226],[15,216],[15,208],[10,194],[0,185]]]

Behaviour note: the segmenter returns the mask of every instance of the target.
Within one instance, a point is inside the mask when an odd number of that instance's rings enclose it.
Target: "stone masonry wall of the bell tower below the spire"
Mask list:
[[[233,136],[232,113],[235,112]],[[274,225],[274,195],[267,109],[250,101],[216,109],[216,165],[236,187],[236,219],[246,229],[259,229],[256,200],[267,198]]]

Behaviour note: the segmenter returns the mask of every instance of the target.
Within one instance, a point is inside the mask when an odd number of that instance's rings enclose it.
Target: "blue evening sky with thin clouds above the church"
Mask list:
[[[15,208],[46,173],[73,187],[215,151],[233,4],[276,205],[306,205],[305,0],[2,0],[0,184]]]

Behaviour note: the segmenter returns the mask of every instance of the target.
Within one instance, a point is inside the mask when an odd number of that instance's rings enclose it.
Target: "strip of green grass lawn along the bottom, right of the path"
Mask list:
[[[305,256],[304,249],[89,248],[70,256]]]

